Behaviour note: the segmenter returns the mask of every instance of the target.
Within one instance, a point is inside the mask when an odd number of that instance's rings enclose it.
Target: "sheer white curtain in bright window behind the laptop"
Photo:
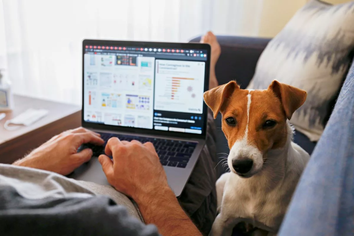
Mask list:
[[[0,0],[0,69],[17,94],[81,104],[84,38],[258,33],[262,0]]]

